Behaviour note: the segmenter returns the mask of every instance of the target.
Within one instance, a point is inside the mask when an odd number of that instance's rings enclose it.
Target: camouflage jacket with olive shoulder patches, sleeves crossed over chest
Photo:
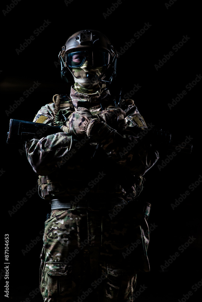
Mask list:
[[[56,96],[52,103],[38,111],[34,122],[54,125]],[[102,111],[100,105],[89,108],[89,103],[96,101],[100,104],[108,98],[109,91],[101,95],[84,95],[71,88],[70,97],[60,98],[62,101],[55,121],[57,125],[65,125],[65,118],[78,107],[88,108],[92,114],[99,113]],[[125,120],[129,127],[122,132],[111,129],[110,136],[99,146],[87,136],[80,140],[66,132],[33,139],[26,144],[28,161],[39,175],[43,198],[69,196],[73,200],[85,192],[92,198],[119,196],[129,201],[138,195],[142,190],[142,175],[158,160],[158,152],[141,140],[140,133],[147,132],[147,126],[134,102],[121,102],[127,105]],[[133,131],[129,130],[130,127]]]

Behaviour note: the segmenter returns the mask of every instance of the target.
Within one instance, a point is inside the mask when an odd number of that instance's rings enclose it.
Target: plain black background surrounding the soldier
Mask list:
[[[155,224],[151,232],[148,256],[151,272],[140,273],[135,291],[140,285],[147,287],[135,299],[141,301],[200,301],[201,287],[195,292],[192,286],[202,279],[201,274],[201,183],[191,191],[189,186],[202,175],[200,156],[201,82],[188,91],[185,86],[201,73],[200,60],[200,17],[199,5],[195,2],[122,1],[108,16],[114,2],[77,1],[34,1],[21,0],[10,9],[11,1],[1,7],[1,301],[43,301],[38,293],[39,256],[42,248],[42,230],[49,205],[35,193],[28,198],[26,193],[35,188],[37,177],[29,165],[23,144],[6,144],[6,133],[11,118],[32,121],[42,105],[50,103],[55,94],[69,94],[70,85],[60,78],[58,54],[67,38],[81,29],[95,29],[106,34],[117,51],[134,38],[145,23],[151,26],[135,43],[125,50],[118,59],[118,75],[122,80],[122,96],[130,93],[134,85],[141,88],[132,98],[147,123],[171,131],[175,140],[184,142],[190,136],[193,149],[191,154],[177,153],[168,162],[167,155],[160,153],[158,163],[146,173],[146,182],[141,199],[152,204],[148,225]],[[169,2],[167,2],[169,3]],[[13,7],[13,5],[11,5]],[[3,10],[10,10],[5,13]],[[112,8],[113,10],[113,8]],[[33,32],[51,22],[36,36]],[[34,36],[34,40],[19,54],[20,44]],[[172,47],[190,39],[178,49]],[[155,64],[173,51],[174,55],[161,68]],[[23,92],[41,83],[13,112],[15,100],[23,97]],[[195,84],[195,82],[194,82]],[[187,95],[171,109],[168,103],[186,90]],[[16,106],[15,106],[16,107]],[[6,111],[7,110],[7,111]],[[160,167],[167,159],[165,167]],[[202,178],[201,178],[202,179]],[[198,185],[199,184],[199,185]],[[174,209],[171,204],[185,191],[190,194]],[[26,197],[14,214],[8,211]],[[4,234],[9,234],[9,298],[4,298]],[[25,255],[22,250],[39,236],[40,240]],[[194,241],[183,252],[178,248],[187,242],[189,236]],[[162,265],[170,255],[179,252],[179,257],[167,269]],[[171,261],[170,261],[171,262]],[[8,280],[8,279],[7,279]],[[199,284],[201,284],[199,282]],[[35,291],[36,294],[30,294]],[[185,297],[183,296],[185,295]],[[185,300],[182,300],[185,301]]]

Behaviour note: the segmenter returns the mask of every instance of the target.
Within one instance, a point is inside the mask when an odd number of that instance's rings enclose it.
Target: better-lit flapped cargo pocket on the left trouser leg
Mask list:
[[[45,262],[44,298],[68,297],[72,292],[72,267],[65,262]]]

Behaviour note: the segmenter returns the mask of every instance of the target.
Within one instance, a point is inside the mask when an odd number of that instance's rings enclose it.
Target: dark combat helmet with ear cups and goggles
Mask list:
[[[70,68],[82,66],[86,57],[91,60],[92,66],[106,66],[105,72],[98,78],[100,81],[110,84],[116,77],[116,50],[108,38],[99,31],[82,30],[71,35],[58,56],[61,64],[61,78],[66,82],[70,82],[70,72],[73,75]],[[75,80],[74,75],[73,77]]]

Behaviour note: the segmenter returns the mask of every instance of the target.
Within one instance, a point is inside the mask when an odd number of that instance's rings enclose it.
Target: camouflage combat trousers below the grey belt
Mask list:
[[[149,271],[149,210],[52,211],[41,252],[44,302],[133,301],[136,272]]]

